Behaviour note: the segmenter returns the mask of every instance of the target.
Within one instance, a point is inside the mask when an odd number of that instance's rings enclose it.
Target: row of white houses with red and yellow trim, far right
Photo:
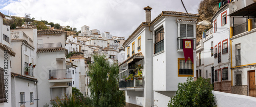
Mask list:
[[[225,2],[212,17],[213,28],[197,43],[197,77],[211,78],[214,90],[256,96],[253,1]],[[249,10],[248,10],[249,9]]]

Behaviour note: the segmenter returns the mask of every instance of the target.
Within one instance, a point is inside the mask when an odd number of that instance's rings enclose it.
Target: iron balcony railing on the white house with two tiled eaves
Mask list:
[[[49,79],[71,79],[71,69],[49,70]]]

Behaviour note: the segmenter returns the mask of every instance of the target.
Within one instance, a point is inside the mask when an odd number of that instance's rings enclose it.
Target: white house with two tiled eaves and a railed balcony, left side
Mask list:
[[[57,30],[37,31],[38,49],[38,106],[46,103],[51,106],[51,101],[65,99],[72,93],[71,71],[66,69],[67,49],[64,48],[66,33]],[[39,44],[40,41],[40,44]]]

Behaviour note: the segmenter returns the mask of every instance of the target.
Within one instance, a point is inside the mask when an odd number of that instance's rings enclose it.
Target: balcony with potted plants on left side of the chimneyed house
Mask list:
[[[144,90],[144,77],[134,77],[131,81],[120,81],[119,90],[135,90],[143,91]]]

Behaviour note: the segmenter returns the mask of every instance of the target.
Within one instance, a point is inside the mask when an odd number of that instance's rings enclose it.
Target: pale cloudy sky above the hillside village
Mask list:
[[[198,13],[201,0],[183,0],[188,13]],[[152,19],[161,11],[185,12],[180,0],[0,0],[0,12],[14,16],[31,14],[36,20],[60,23],[80,30],[82,25],[90,30],[110,32],[113,36],[127,38],[145,21],[143,8],[150,6]]]

